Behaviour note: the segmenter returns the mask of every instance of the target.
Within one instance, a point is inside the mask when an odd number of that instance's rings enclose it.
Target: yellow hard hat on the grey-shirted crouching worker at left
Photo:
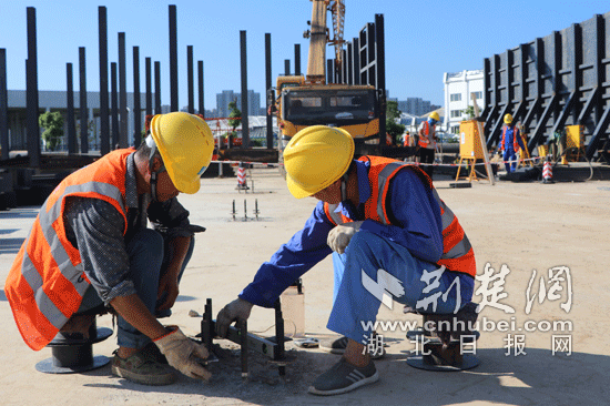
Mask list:
[[[214,151],[214,138],[205,121],[184,112],[156,114],[151,135],[174,186],[182,193],[196,193]]]

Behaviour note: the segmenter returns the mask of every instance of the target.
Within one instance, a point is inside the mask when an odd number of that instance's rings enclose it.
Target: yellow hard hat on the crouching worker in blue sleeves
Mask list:
[[[307,126],[284,150],[288,190],[296,199],[307,197],[332,185],[354,159],[354,139],[343,129]]]

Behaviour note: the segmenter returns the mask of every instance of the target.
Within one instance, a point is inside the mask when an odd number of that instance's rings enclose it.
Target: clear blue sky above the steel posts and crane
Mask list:
[[[346,0],[345,39],[358,35],[383,13],[386,85],[390,97],[423,98],[443,105],[443,74],[482,69],[484,58],[546,37],[572,23],[610,11],[604,1],[407,1]],[[140,48],[141,90],[144,58],[161,61],[162,103],[170,104],[169,4],[177,10],[180,105],[187,104],[186,47],[204,61],[205,106],[216,106],[222,90],[241,91],[240,31],[247,32],[248,89],[265,92],[265,33],[272,38],[272,74],[294,69],[294,44],[301,43],[306,71],[311,19],[308,0],[1,0],[0,48],[7,50],[10,90],[26,89],[27,7],[37,10],[40,90],[65,90],[65,63],[73,63],[79,83],[79,48],[87,52],[87,88],[99,90],[98,7],[108,9],[109,62],[118,61],[118,33],[125,32],[126,85],[133,90],[133,47]],[[327,49],[327,58],[333,48]],[[110,71],[110,65],[109,65]],[[196,99],[195,93],[195,108]]]

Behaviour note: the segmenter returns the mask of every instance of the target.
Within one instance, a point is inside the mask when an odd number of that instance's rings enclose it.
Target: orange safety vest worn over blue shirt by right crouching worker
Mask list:
[[[368,182],[372,185],[372,192],[370,197],[365,202],[365,219],[370,219],[385,225],[392,224],[386,204],[389,181],[398,171],[407,168],[411,169],[421,179],[424,184],[431,190],[434,197],[440,206],[443,255],[438,261],[438,265],[445,265],[450,271],[464,272],[475,277],[477,265],[475,263],[472,246],[454,212],[440,200],[430,177],[417,166],[404,164],[400,161],[388,158],[362,156],[359,161],[370,162]],[[331,223],[337,225],[353,221],[340,213],[335,213],[336,209],[337,204],[324,203],[324,212]]]

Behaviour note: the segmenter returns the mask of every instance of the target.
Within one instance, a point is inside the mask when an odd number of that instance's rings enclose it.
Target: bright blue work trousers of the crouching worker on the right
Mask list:
[[[333,264],[334,303],[327,328],[365,345],[372,334],[367,325],[375,323],[382,301],[394,309],[398,302],[425,313],[450,314],[472,298],[469,275],[439,271],[403,245],[365,231],[352,237],[344,254],[333,254]],[[399,311],[401,315],[403,306]]]

